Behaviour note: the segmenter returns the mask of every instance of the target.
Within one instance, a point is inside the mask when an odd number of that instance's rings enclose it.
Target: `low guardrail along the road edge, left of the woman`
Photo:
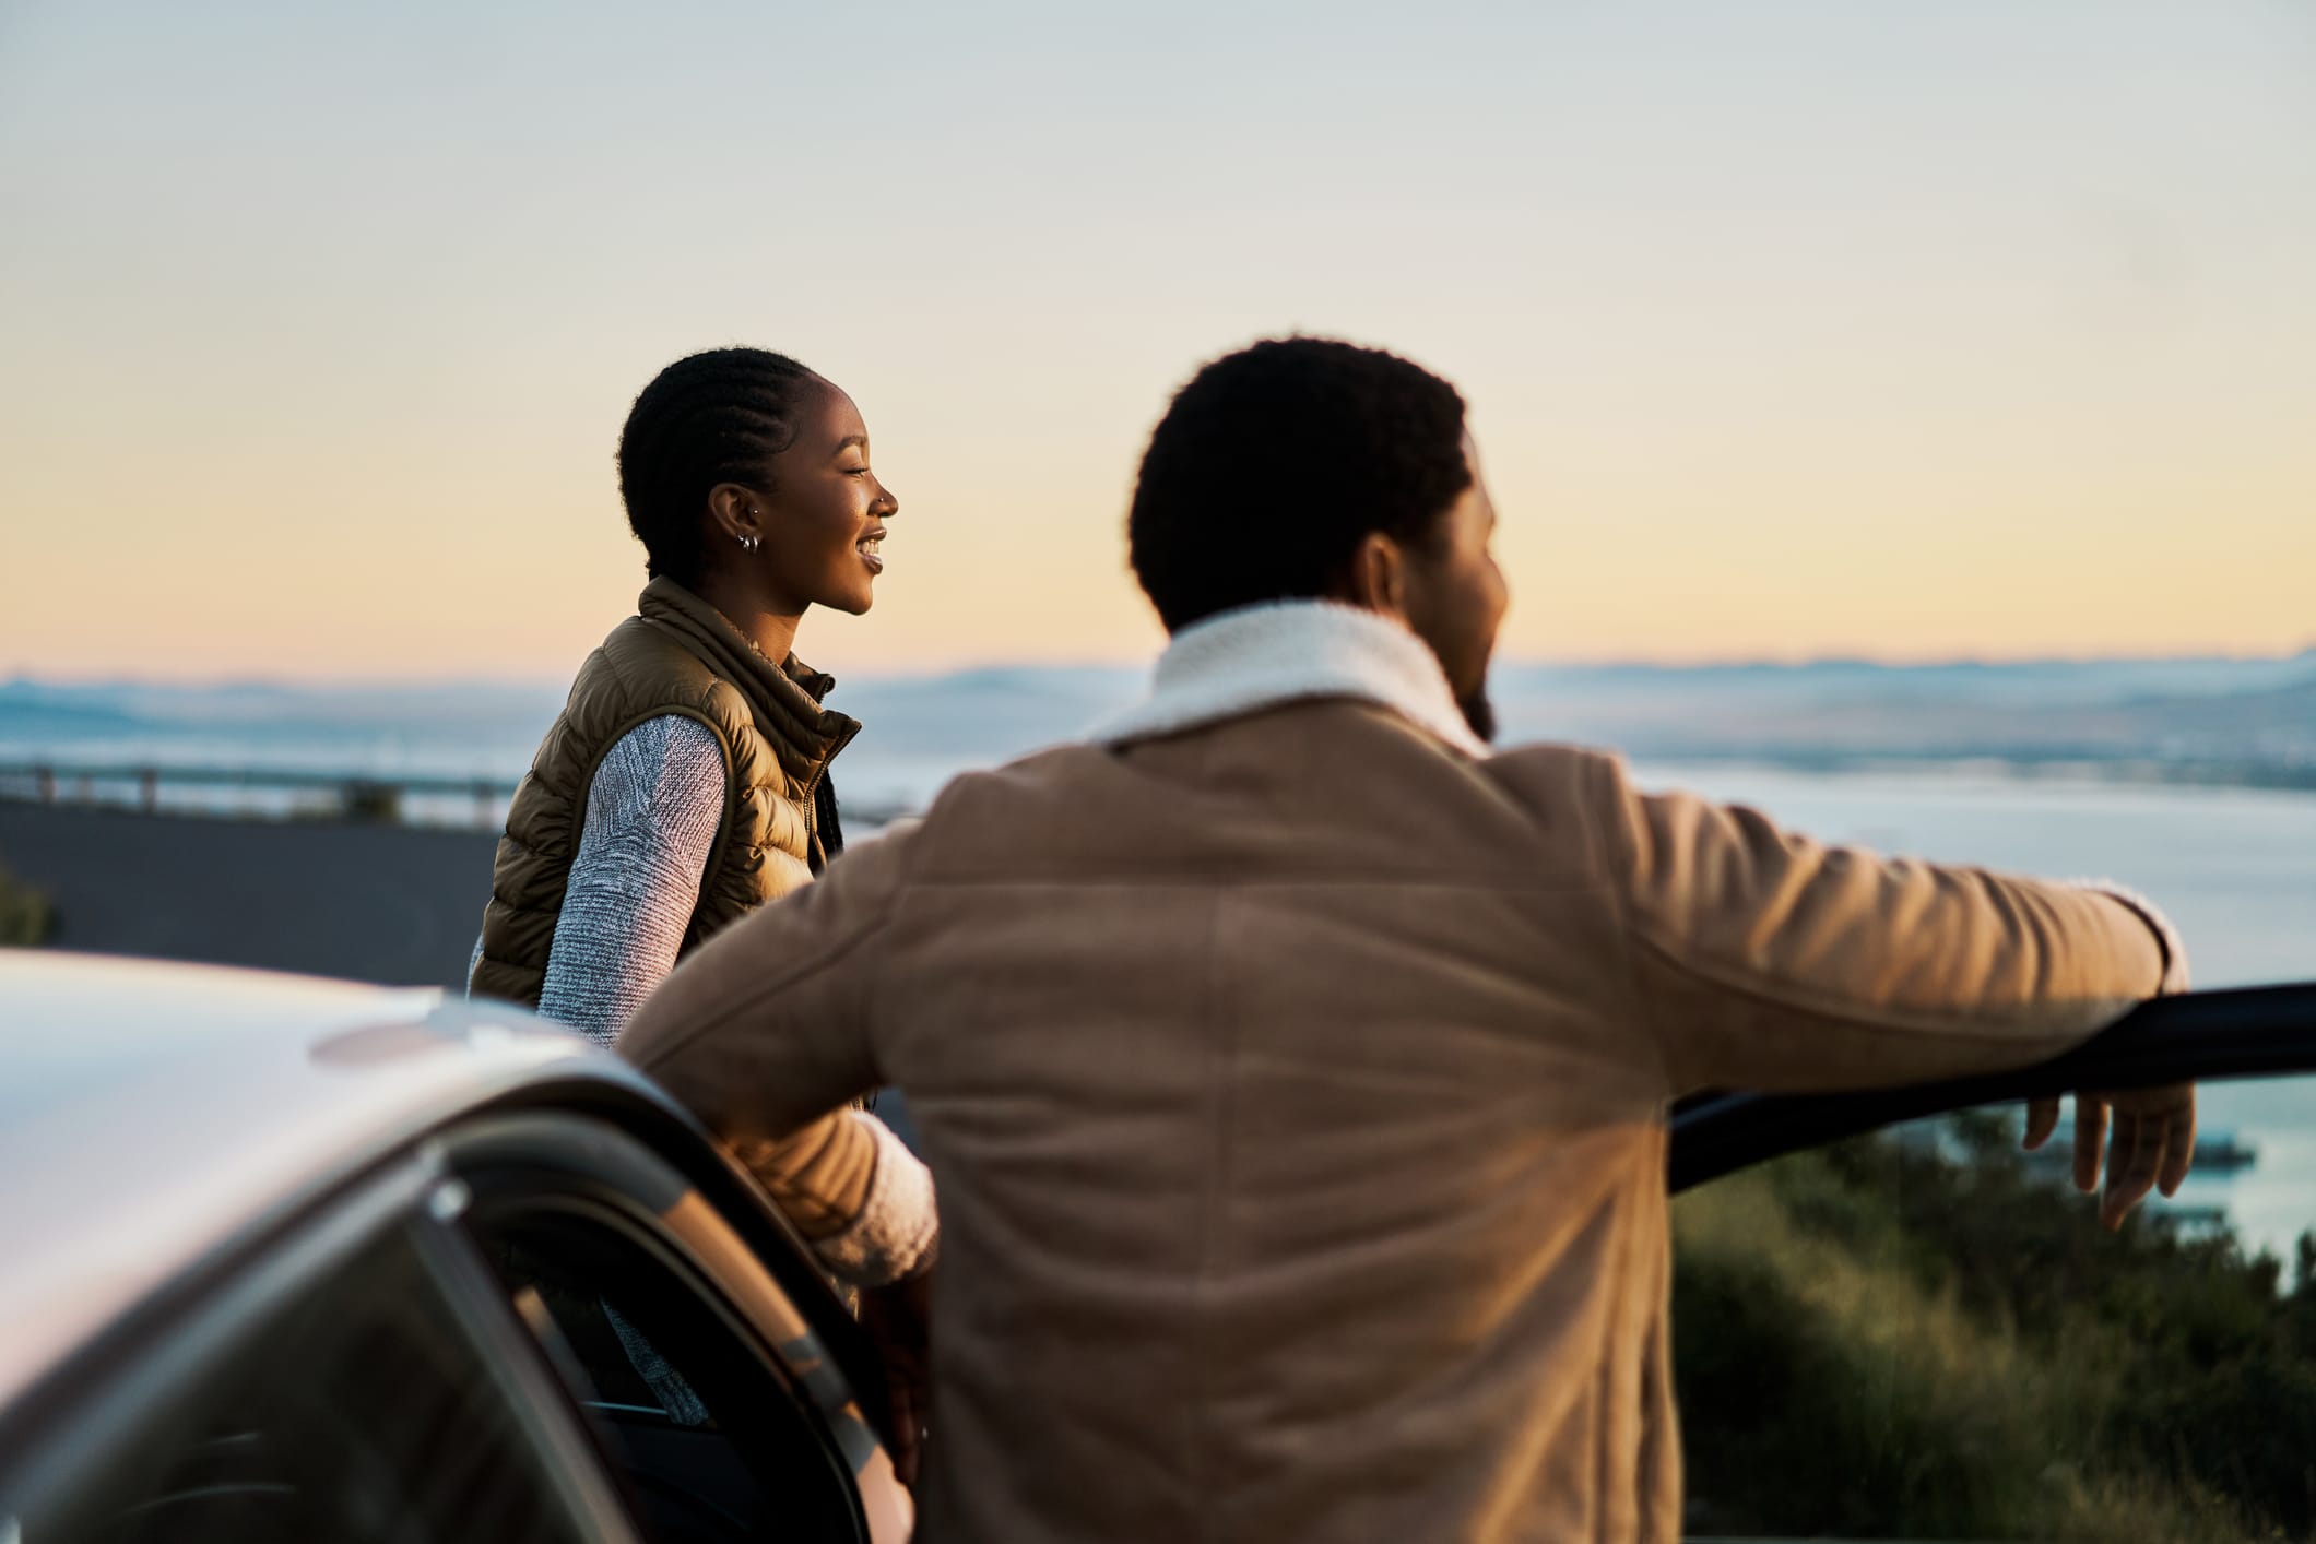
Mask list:
[[[174,789],[197,789],[208,794],[250,794],[257,813],[313,815],[359,819],[373,824],[398,824],[410,813],[412,799],[431,799],[445,815],[466,810],[468,819],[435,819],[428,824],[475,824],[496,826],[514,782],[505,778],[431,778],[401,773],[329,773],[250,766],[162,766],[162,764],[111,764],[72,766],[63,762],[0,762],[0,799],[19,803],[79,803],[137,808],[146,815],[162,810],[164,794]],[[266,801],[262,796],[271,794]],[[320,796],[317,801],[313,796]],[[303,801],[303,803],[301,803]],[[192,801],[199,808],[199,801]],[[220,813],[208,801],[208,813]],[[271,810],[266,806],[273,806]],[[232,810],[225,810],[232,813]],[[250,813],[250,810],[241,810]]]

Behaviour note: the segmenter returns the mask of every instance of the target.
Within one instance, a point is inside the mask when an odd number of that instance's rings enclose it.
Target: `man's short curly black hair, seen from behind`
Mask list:
[[[1151,433],[1126,521],[1167,632],[1332,595],[1373,532],[1431,549],[1471,486],[1464,398],[1383,350],[1271,338],[1216,359]]]

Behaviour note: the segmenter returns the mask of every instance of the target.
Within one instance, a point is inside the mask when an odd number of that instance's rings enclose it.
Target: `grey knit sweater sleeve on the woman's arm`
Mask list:
[[[725,808],[716,734],[653,718],[604,755],[588,785],[547,951],[540,1012],[609,1046],[683,947]]]

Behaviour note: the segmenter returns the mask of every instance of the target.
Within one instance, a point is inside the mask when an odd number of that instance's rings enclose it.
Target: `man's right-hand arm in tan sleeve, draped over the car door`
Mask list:
[[[1635,792],[1614,762],[1600,785],[1633,986],[1677,1093],[1999,1072],[2186,991],[2179,935],[2128,891],[1825,847],[1756,810]],[[2026,1146],[2057,1120],[2038,1102]],[[2110,1227],[2179,1188],[2193,1141],[2189,1086],[2075,1095],[2075,1183],[2108,1157]]]

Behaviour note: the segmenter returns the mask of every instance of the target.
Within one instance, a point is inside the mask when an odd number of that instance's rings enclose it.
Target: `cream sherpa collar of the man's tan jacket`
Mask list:
[[[1158,655],[1149,697],[1091,738],[1151,741],[1313,697],[1371,701],[1466,755],[1487,755],[1429,644],[1373,611],[1315,600],[1241,606],[1183,627]]]

